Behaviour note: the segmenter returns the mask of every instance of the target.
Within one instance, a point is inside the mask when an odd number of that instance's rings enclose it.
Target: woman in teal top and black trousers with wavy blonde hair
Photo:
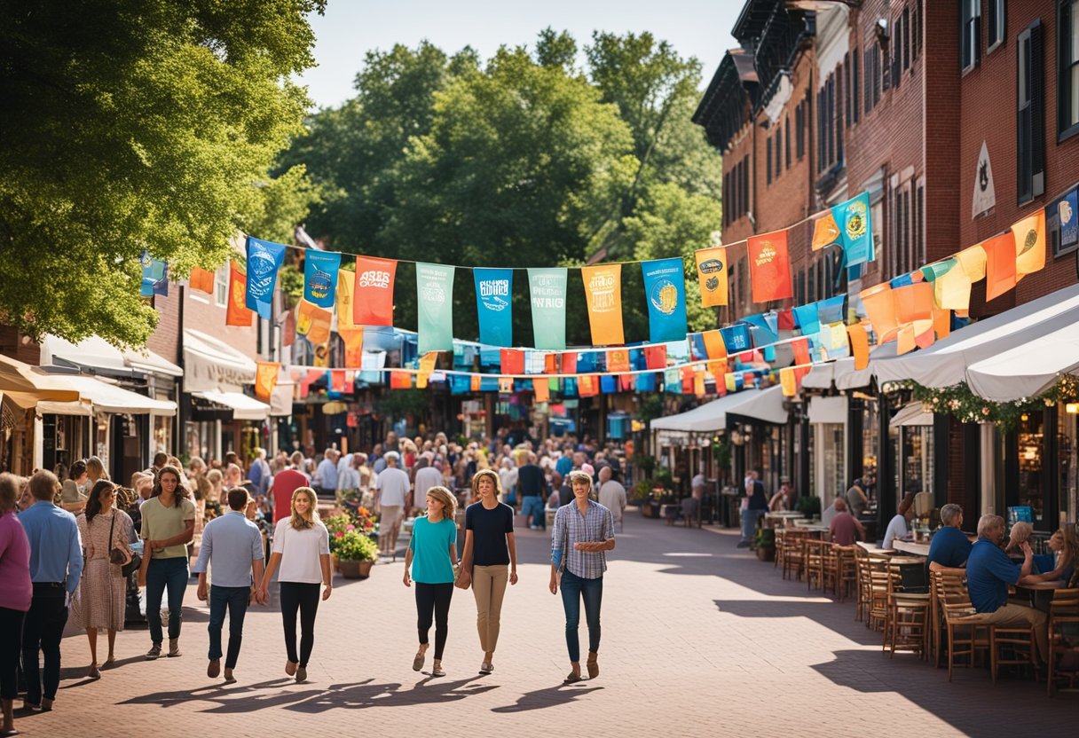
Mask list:
[[[450,600],[453,598],[453,569],[457,565],[457,525],[454,522],[457,501],[445,487],[427,490],[427,515],[415,519],[412,538],[405,556],[405,586],[415,579],[416,629],[420,650],[412,669],[423,669],[427,653],[427,633],[432,611],[435,619],[435,661],[432,676],[445,676],[442,650],[449,633]],[[411,568],[411,578],[409,578]]]

